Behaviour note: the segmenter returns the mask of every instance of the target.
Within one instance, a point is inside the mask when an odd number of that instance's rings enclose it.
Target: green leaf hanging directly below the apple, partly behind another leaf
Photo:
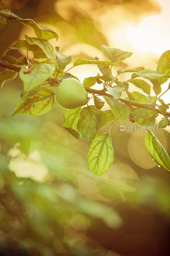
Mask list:
[[[76,139],[80,138],[80,135],[77,131],[76,125],[78,122],[79,113],[81,108],[69,109],[64,113],[64,123],[63,127],[70,132]]]

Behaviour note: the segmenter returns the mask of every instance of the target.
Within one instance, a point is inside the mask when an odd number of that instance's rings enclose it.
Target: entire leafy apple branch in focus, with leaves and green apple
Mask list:
[[[91,142],[87,152],[87,168],[93,171],[95,176],[107,172],[114,161],[114,149],[110,129],[120,119],[129,119],[132,123],[146,126],[145,147],[152,159],[165,171],[170,173],[170,158],[155,135],[147,129],[155,125],[155,118],[162,115],[159,128],[170,125],[170,103],[165,103],[161,96],[170,89],[165,88],[164,83],[170,77],[170,50],[162,54],[157,70],[147,69],[142,66],[123,69],[117,64],[132,55],[132,52],[118,48],[101,46],[101,51],[107,60],[78,59],[66,69],[72,61],[71,56],[65,56],[58,46],[53,48],[50,39],[58,40],[57,33],[48,27],[40,26],[31,19],[22,19],[9,10],[0,12],[0,23],[10,25],[20,22],[34,30],[36,37],[25,35],[24,40],[16,40],[9,45],[0,59],[0,66],[5,70],[0,73],[0,89],[4,82],[14,79],[17,75],[23,81],[24,90],[21,99],[17,103],[12,116],[27,114],[41,116],[50,111],[57,100],[61,106],[70,108],[64,114],[63,126],[76,139],[80,136]],[[26,56],[18,60],[6,53],[8,50],[26,50],[33,52],[33,59]],[[42,60],[43,59],[43,60]],[[87,77],[83,85],[79,79],[68,72],[78,65],[97,65],[100,73]],[[118,68],[117,74],[112,74],[112,66]],[[119,81],[122,73],[132,73],[127,81]],[[153,84],[154,96],[151,96],[151,86],[145,80]],[[102,90],[92,89],[94,84],[102,84]],[[142,90],[130,92],[130,83]],[[61,86],[60,86],[61,84]],[[56,91],[58,87],[58,94]],[[122,92],[126,92],[127,98],[121,98]],[[60,93],[59,93],[60,92]],[[88,105],[89,94],[92,95],[94,105]],[[101,97],[102,96],[102,99]],[[81,97],[85,97],[84,100]],[[80,99],[81,98],[81,99]],[[105,102],[110,109],[101,110]],[[79,106],[78,108],[76,106]],[[102,134],[100,128],[110,124],[108,131]]]

